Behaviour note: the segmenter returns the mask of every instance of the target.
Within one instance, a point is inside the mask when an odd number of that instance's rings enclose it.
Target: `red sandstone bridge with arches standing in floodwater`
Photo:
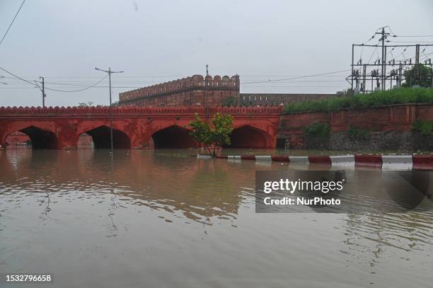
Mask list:
[[[112,108],[115,149],[195,147],[187,125],[195,113],[233,116],[231,147],[275,148],[282,107],[135,107]],[[14,132],[30,137],[34,149],[76,149],[81,134],[91,135],[95,148],[110,145],[108,107],[0,108],[0,145]]]

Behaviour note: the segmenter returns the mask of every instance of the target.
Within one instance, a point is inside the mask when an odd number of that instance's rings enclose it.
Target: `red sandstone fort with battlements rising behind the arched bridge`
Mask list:
[[[240,93],[238,75],[194,75],[119,94],[120,105],[138,106],[277,106],[335,97],[335,94]]]

